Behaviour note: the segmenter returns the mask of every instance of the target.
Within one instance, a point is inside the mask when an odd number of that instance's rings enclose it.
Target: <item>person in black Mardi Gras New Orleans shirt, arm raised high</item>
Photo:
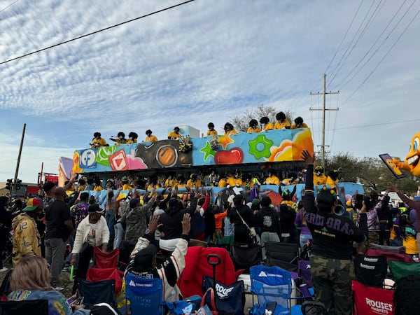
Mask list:
[[[307,164],[304,190],[304,219],[312,235],[311,274],[315,297],[325,304],[326,314],[351,314],[351,280],[354,266],[351,260],[353,241],[361,243],[367,236],[366,206],[360,209],[359,228],[350,218],[337,216],[337,197],[330,190],[314,195],[314,156],[302,152]]]

